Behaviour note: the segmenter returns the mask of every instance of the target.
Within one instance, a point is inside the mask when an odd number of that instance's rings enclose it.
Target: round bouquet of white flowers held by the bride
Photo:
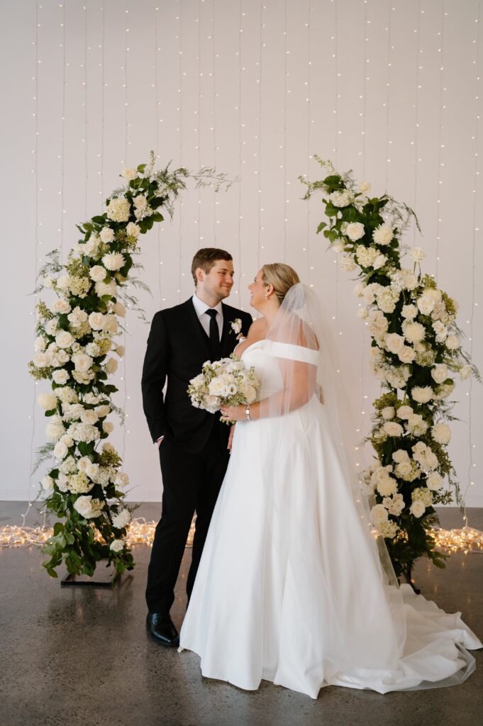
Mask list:
[[[232,354],[213,363],[206,361],[200,374],[190,380],[187,390],[192,406],[216,413],[221,406],[252,404],[259,388],[255,369],[247,369]]]

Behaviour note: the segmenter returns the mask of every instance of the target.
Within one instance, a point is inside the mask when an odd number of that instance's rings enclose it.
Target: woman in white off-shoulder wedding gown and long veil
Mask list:
[[[237,425],[180,650],[210,678],[262,679],[317,698],[339,685],[391,690],[462,682],[460,619],[398,586],[370,531],[357,481],[336,352],[312,290],[285,264],[249,286],[263,317],[236,349],[261,380],[259,401],[222,407]],[[323,396],[323,398],[322,398]],[[343,432],[343,433],[341,433]]]

